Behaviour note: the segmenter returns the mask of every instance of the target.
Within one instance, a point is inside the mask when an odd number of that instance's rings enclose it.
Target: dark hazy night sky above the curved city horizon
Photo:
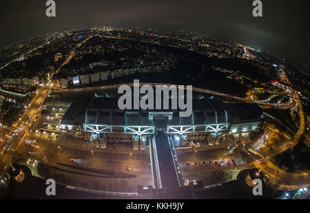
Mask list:
[[[1,0],[0,47],[39,34],[84,27],[173,26],[269,49],[310,65],[309,0],[262,0],[263,16],[252,16],[253,0],[55,0],[56,17],[45,16],[45,0]]]

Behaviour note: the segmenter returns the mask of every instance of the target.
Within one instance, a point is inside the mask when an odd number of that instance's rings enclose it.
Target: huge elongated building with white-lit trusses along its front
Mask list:
[[[194,93],[189,117],[180,117],[180,109],[171,109],[171,101],[165,110],[121,110],[119,96],[114,92],[72,100],[61,120],[61,131],[103,147],[107,142],[133,142],[134,149],[143,149],[156,131],[173,137],[175,144],[204,141],[213,145],[227,134],[259,131],[264,118],[256,104],[228,103],[201,93]]]

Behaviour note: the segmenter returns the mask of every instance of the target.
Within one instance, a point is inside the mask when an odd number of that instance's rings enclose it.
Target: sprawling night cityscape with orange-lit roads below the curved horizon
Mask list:
[[[309,69],[268,49],[101,26],[0,56],[3,199],[309,198]]]

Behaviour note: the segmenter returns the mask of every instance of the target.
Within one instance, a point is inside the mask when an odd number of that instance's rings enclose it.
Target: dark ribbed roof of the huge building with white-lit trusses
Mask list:
[[[118,98],[94,97],[74,100],[63,116],[61,123],[154,126],[152,115],[165,113],[169,116],[168,125],[171,126],[234,124],[259,120],[262,115],[262,109],[256,104],[227,104],[214,99],[194,99],[192,102],[193,113],[189,117],[180,117],[179,109],[171,109],[171,104],[169,107],[165,110],[121,110],[118,108]]]

